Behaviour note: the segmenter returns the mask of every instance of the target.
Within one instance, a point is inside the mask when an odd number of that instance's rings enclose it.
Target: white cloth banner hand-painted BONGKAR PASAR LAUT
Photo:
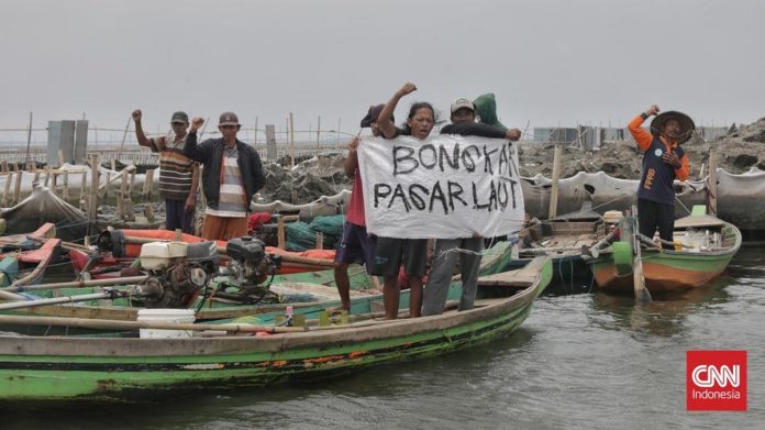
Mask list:
[[[367,231],[404,239],[496,236],[522,228],[515,143],[436,135],[364,137],[358,145]]]

